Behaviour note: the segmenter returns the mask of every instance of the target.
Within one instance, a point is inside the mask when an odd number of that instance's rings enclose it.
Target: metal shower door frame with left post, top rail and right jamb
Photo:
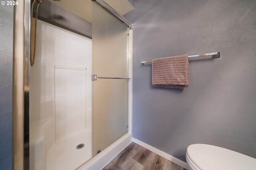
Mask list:
[[[103,0],[94,0],[129,26],[131,24]],[[12,98],[12,169],[29,170],[29,66],[30,66],[30,0],[14,6],[13,98]],[[132,41],[129,41],[129,111],[128,134],[132,134]],[[86,161],[88,162],[88,161]],[[85,163],[86,163],[85,162]],[[88,162],[89,163],[89,162]],[[82,166],[82,165],[81,165]]]

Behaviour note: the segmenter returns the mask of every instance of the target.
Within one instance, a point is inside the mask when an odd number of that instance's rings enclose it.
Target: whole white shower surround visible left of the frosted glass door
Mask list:
[[[79,156],[91,156],[92,40],[40,20],[36,35],[36,59],[30,66],[30,155],[37,156],[30,159],[30,168],[44,170],[60,143],[75,150],[85,143]],[[86,136],[80,139],[79,134]]]

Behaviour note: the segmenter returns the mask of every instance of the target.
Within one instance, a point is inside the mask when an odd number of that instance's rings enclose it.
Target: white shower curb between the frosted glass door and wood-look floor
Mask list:
[[[128,133],[104,149],[102,152],[94,156],[91,160],[80,166],[78,170],[101,170],[131,142],[132,135]]]

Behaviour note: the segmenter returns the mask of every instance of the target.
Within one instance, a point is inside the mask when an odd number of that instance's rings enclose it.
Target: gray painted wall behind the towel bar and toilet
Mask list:
[[[160,0],[134,21],[134,137],[183,161],[194,143],[256,158],[256,1]],[[154,88],[151,64],[140,64],[217,51],[190,59],[185,90]]]

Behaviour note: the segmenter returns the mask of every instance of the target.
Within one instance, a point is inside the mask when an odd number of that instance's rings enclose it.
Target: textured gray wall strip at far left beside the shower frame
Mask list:
[[[13,6],[0,5],[0,169],[12,169]]]

